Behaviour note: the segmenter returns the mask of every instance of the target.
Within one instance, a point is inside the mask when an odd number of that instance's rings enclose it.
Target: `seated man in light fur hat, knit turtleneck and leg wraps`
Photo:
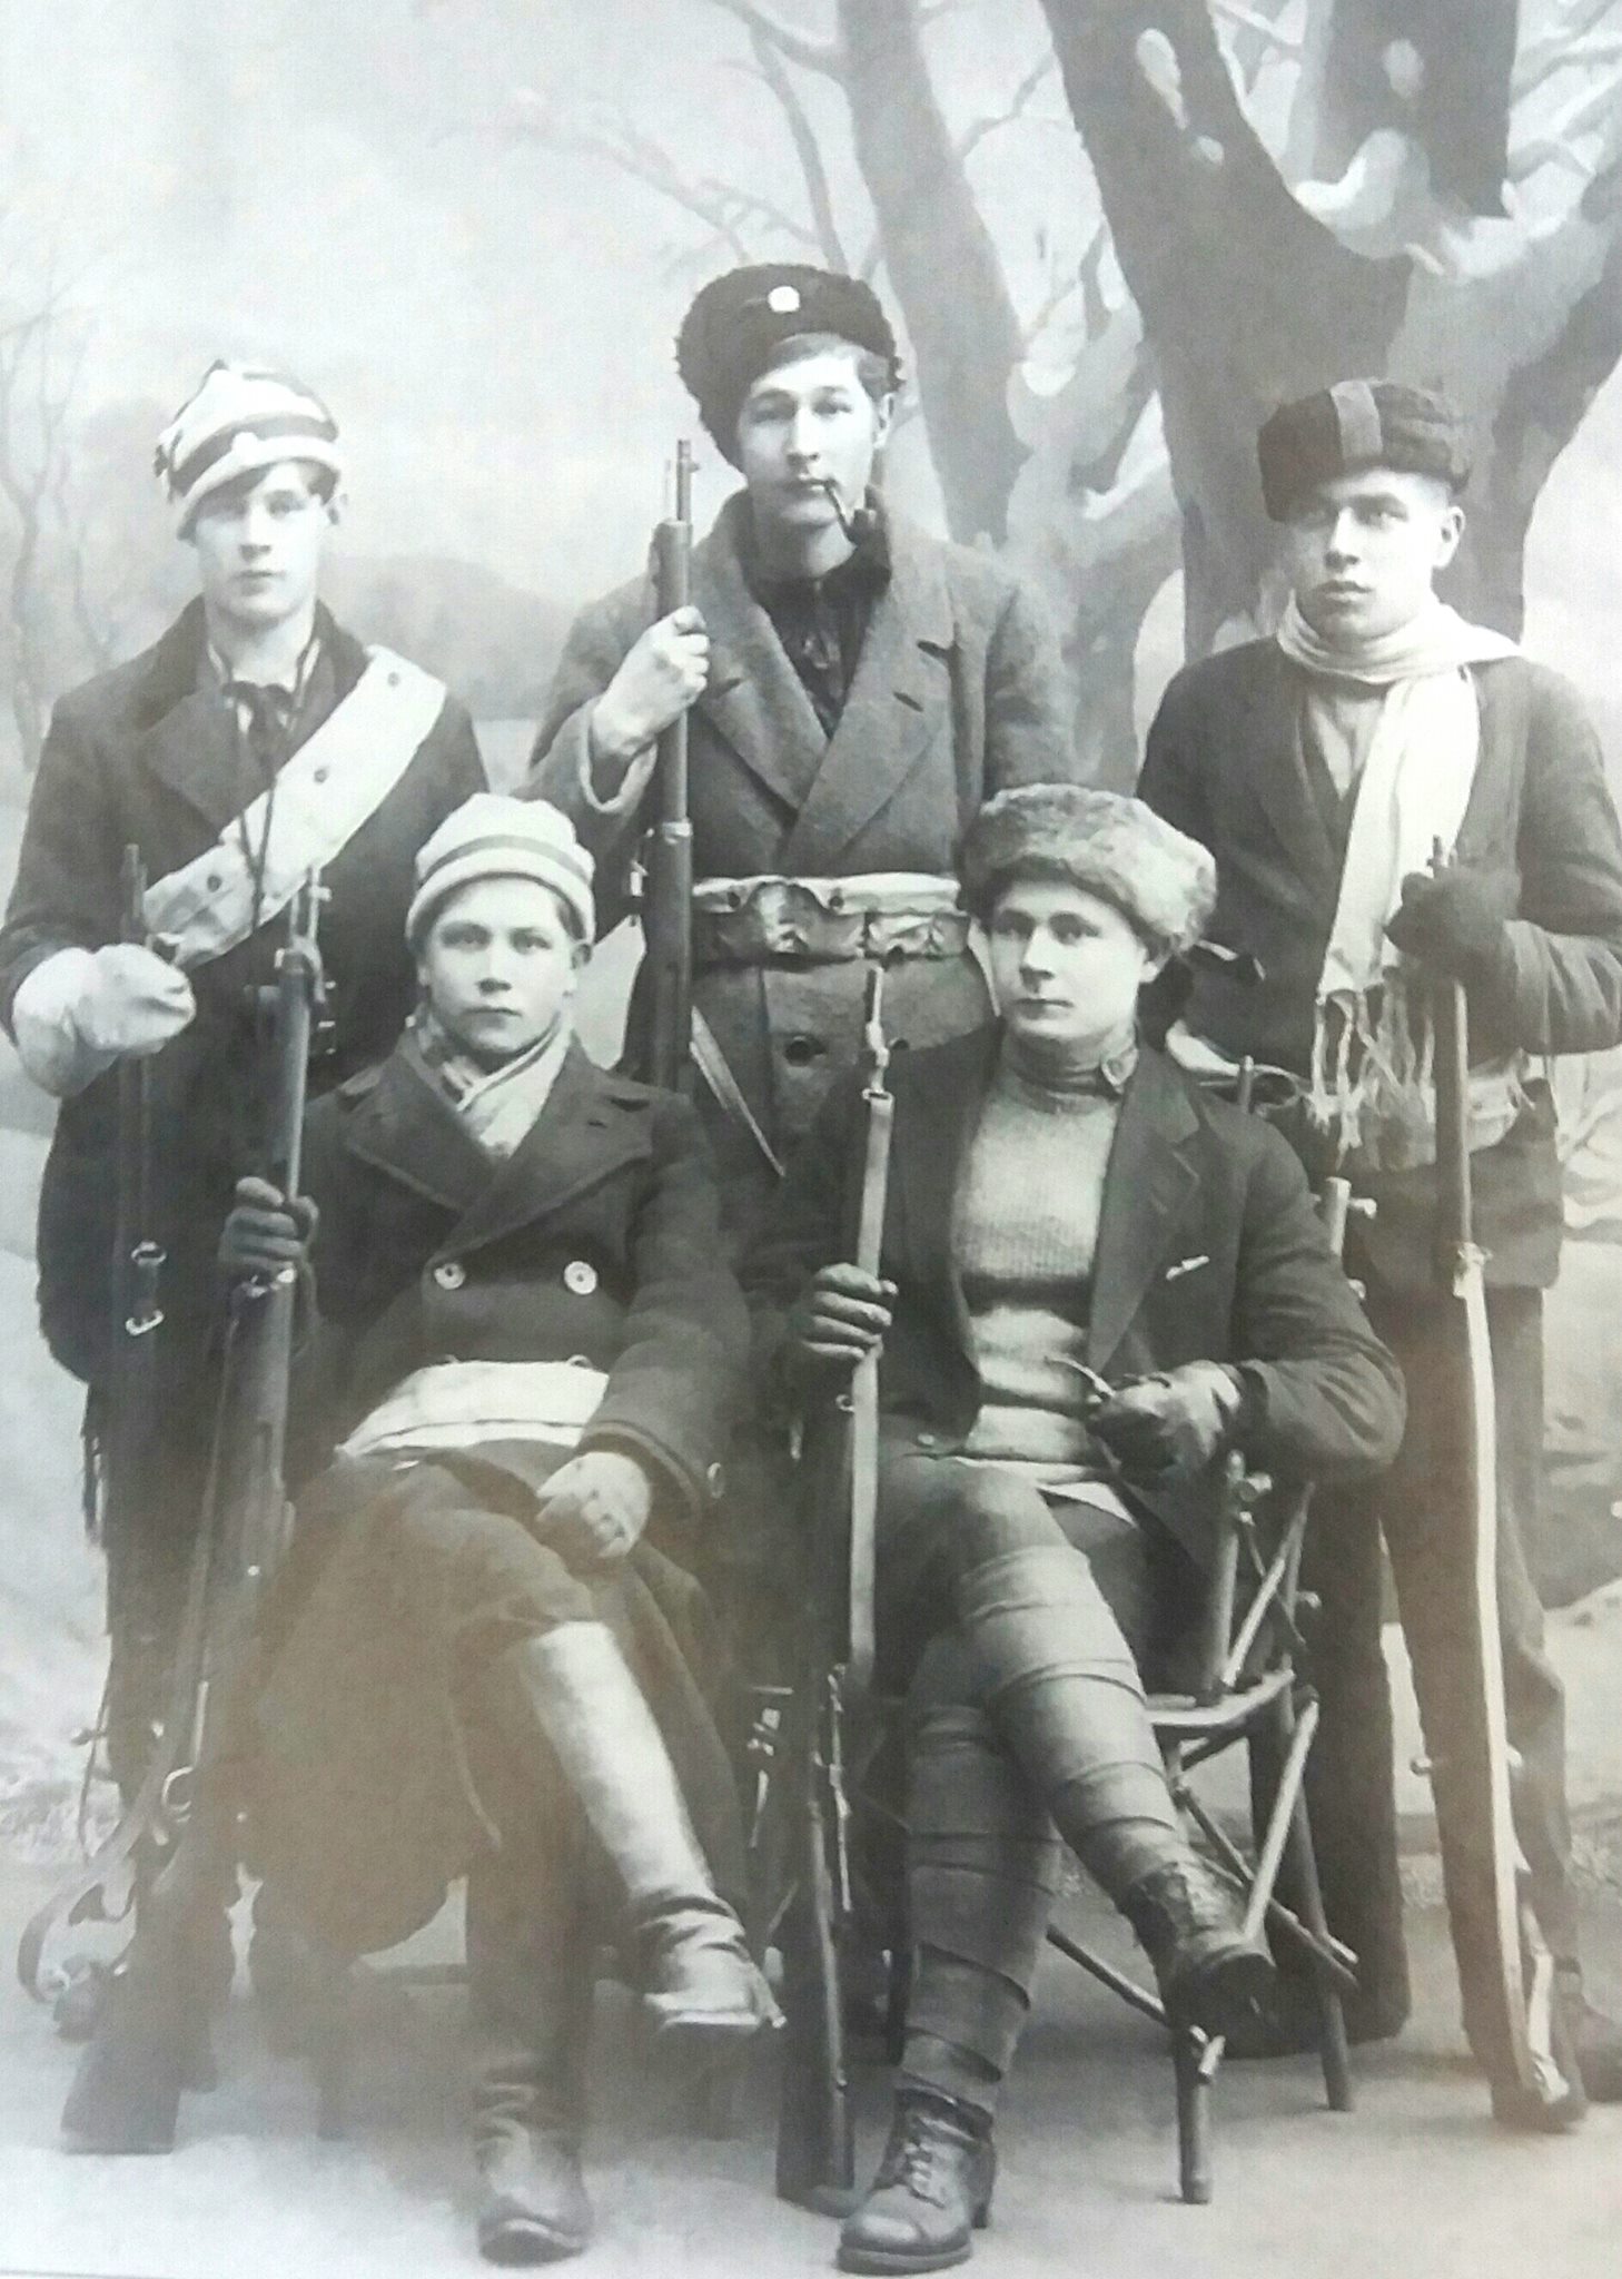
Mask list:
[[[1198,1604],[1223,1449],[1351,1475],[1403,1422],[1289,1149],[1139,1042],[1139,991],[1212,909],[1205,850],[1137,800],[1048,784],[980,814],[961,880],[998,1021],[895,1062],[884,1276],[841,1263],[850,1089],[745,1272],[775,1390],[816,1397],[882,1347],[877,1616],[909,1693],[916,1976],[845,2270],[968,2254],[1055,1830],[1175,2019],[1226,2033],[1267,1990],[1173,1810],[1139,1664]]]

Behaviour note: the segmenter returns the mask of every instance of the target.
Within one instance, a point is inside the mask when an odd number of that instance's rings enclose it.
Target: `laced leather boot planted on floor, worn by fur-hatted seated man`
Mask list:
[[[843,2272],[939,2272],[966,2263],[991,2222],[991,2117],[957,2097],[898,2090],[873,2188],[838,2233]]]

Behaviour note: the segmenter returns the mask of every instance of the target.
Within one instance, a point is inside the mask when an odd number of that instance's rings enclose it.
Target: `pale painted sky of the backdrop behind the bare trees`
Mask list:
[[[948,114],[998,109],[1041,41],[1032,0],[948,18],[929,50]],[[460,556],[574,606],[642,558],[690,426],[670,342],[727,255],[672,267],[699,226],[524,139],[515,96],[622,109],[688,166],[790,203],[781,123],[740,52],[706,0],[0,0],[0,292],[18,303],[52,260],[73,278],[93,315],[82,410],[171,408],[219,353],[285,362],[344,426],[349,549]],[[811,98],[857,212],[838,98]],[[1055,84],[1034,114],[973,162],[1027,308],[1091,212]],[[1046,349],[1064,346],[1059,321]],[[1622,729],[1617,467],[1613,378],[1545,490],[1526,638]],[[893,485],[936,520],[916,428]],[[706,451],[702,520],[727,488]],[[1173,645],[1166,597],[1150,702]]]

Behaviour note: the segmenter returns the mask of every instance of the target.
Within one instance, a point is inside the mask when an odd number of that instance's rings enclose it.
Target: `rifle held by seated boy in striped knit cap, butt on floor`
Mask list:
[[[276,962],[276,1110],[267,1169],[298,1192],[310,1026],[321,991],[314,939],[319,887],[294,900]],[[198,1955],[210,1919],[235,1892],[244,1766],[257,1691],[260,1604],[280,1566],[289,1506],[282,1484],[287,1383],[298,1274],[232,1290],[214,1463],[194,1566],[200,1668],[189,1712],[178,1705],[171,1746],[185,1750],[162,1780],[164,1862],[139,1908],[130,1951],[114,1969],[96,2031],[62,2113],[75,2151],[169,2151],[180,2092],[207,2049],[207,1985]],[[189,1748],[187,1748],[189,1743]],[[148,1782],[150,1787],[150,1782]],[[146,1796],[146,1789],[144,1789]]]

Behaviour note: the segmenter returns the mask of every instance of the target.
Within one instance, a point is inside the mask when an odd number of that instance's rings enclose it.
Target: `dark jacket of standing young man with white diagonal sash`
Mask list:
[[[303,734],[349,695],[367,652],[319,613],[317,702]],[[323,697],[323,702],[321,702]],[[478,745],[447,697],[406,775],[323,875],[321,953],[330,1028],[317,1087],[378,1060],[410,1010],[406,950],[412,859],[428,834],[483,789]],[[123,850],[150,880],[191,861],[241,809],[232,722],[205,686],[203,606],[191,604],[141,656],[98,675],[55,711],[23,830],[16,887],[0,930],[0,1014],[18,982],[71,944],[121,934]],[[157,1103],[157,1237],[169,1249],[164,1306],[175,1381],[196,1367],[214,1308],[214,1244],[235,1178],[255,1169],[255,1048],[248,991],[273,971],[280,925],[191,973],[196,1021],[153,1062]],[[116,1192],[116,1073],[62,1103],[39,1201],[39,1301],[52,1354],[96,1379],[107,1338],[107,1260]],[[182,1331],[182,1335],[173,1335]]]

